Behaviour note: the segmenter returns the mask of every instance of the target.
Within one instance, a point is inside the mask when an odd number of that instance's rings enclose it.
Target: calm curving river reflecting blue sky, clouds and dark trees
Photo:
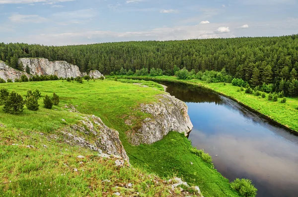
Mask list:
[[[298,197],[298,135],[211,90],[158,82],[186,102],[189,139],[224,177],[252,180],[258,197]]]

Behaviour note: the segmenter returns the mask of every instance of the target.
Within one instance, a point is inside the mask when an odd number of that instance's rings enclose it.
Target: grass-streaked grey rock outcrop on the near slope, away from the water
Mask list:
[[[66,136],[67,143],[87,147],[100,154],[119,155],[129,160],[119,139],[118,131],[108,128],[100,118],[94,115],[82,118],[80,124],[62,131]]]

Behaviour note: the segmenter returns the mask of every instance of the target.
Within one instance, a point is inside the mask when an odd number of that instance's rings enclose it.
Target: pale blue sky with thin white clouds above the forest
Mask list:
[[[298,0],[0,0],[0,42],[77,45],[298,33]]]

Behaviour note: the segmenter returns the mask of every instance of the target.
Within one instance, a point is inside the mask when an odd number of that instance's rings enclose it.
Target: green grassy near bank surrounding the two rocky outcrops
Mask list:
[[[0,178],[4,180],[0,183],[0,191],[5,192],[0,192],[0,196],[101,196],[102,192],[111,194],[115,192],[115,186],[128,182],[133,182],[145,196],[167,196],[161,192],[164,186],[155,187],[149,179],[142,178],[141,174],[146,174],[146,170],[164,178],[177,175],[191,185],[198,185],[205,197],[237,197],[228,180],[211,164],[191,153],[190,142],[177,132],[170,132],[152,145],[128,143],[125,132],[133,126],[126,125],[125,120],[133,116],[142,121],[148,117],[138,110],[139,104],[156,102],[158,94],[163,93],[157,90],[160,86],[151,85],[141,87],[112,80],[84,81],[83,84],[61,80],[0,84],[0,88],[15,90],[22,95],[29,89],[39,89],[43,97],[55,92],[61,100],[58,107],[47,110],[42,107],[41,98],[37,112],[25,108],[21,115],[4,114],[0,107]],[[138,169],[134,172],[132,169],[115,170],[96,153],[51,138],[59,129],[80,119],[81,114],[65,111],[65,104],[73,104],[82,114],[94,114],[108,127],[119,131],[130,162]],[[37,148],[27,148],[26,145]],[[77,155],[85,156],[84,165],[79,165]],[[105,179],[113,181],[109,184],[98,182]],[[52,192],[54,190],[56,192]]]

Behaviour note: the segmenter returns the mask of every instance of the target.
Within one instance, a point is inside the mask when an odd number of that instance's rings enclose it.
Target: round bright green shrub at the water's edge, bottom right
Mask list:
[[[243,197],[255,197],[257,195],[258,190],[249,179],[235,179],[230,186]]]

